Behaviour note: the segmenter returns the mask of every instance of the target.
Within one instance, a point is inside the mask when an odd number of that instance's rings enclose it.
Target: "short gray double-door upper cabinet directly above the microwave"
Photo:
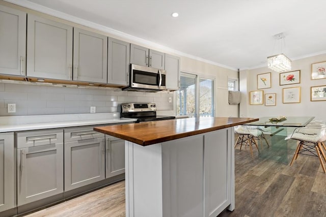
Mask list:
[[[165,53],[130,44],[130,63],[164,69]]]

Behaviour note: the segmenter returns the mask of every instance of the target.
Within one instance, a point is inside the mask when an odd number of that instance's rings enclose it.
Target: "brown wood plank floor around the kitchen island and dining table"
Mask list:
[[[248,147],[235,149],[235,210],[225,210],[219,217],[326,216],[326,174],[319,160],[300,155],[290,167],[261,157],[271,150],[264,145],[258,155],[254,148],[252,159]],[[26,216],[125,216],[124,200],[121,181]]]

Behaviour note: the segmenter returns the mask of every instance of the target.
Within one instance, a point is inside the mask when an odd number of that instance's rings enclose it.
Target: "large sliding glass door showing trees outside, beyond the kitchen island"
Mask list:
[[[181,73],[176,102],[177,115],[214,116],[214,80]]]

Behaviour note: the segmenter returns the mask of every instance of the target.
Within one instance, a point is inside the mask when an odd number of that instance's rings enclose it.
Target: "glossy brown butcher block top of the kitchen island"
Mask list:
[[[152,145],[257,121],[259,118],[199,117],[96,127],[95,131],[139,145]]]

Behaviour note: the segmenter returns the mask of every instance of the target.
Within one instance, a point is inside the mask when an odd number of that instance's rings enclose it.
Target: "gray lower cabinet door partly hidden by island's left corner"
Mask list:
[[[125,172],[124,140],[105,135],[105,178]]]

